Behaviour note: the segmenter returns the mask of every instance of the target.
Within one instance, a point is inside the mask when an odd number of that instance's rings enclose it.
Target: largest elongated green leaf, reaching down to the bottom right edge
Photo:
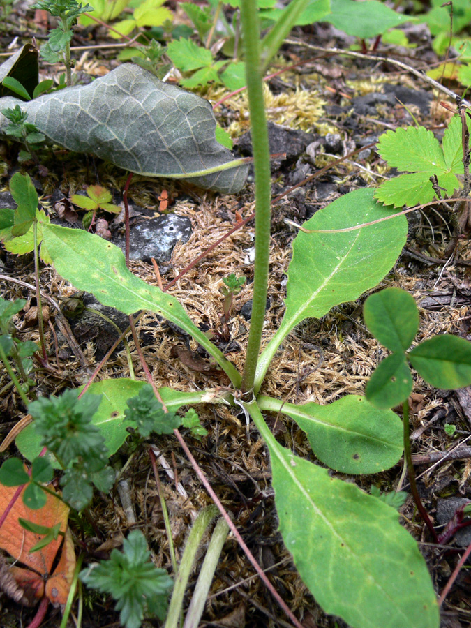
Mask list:
[[[352,628],[438,628],[426,563],[397,511],[294,456],[255,403],[246,409],[269,447],[283,540],[324,611]]]

